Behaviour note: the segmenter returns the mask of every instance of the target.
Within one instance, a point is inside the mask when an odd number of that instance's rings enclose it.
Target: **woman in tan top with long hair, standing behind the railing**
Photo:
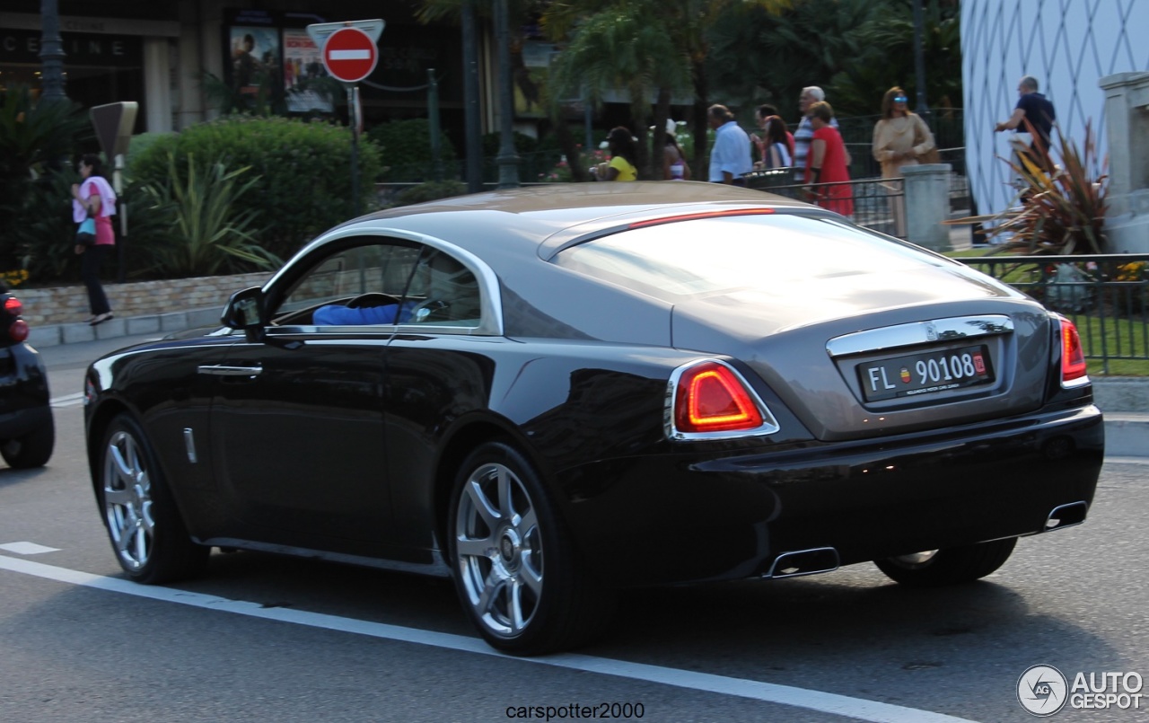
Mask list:
[[[894,86],[881,98],[881,120],[873,126],[873,157],[882,178],[901,178],[902,167],[935,162],[933,133],[916,113],[910,113],[905,91]],[[905,193],[901,183],[886,184],[897,236],[905,238]]]

